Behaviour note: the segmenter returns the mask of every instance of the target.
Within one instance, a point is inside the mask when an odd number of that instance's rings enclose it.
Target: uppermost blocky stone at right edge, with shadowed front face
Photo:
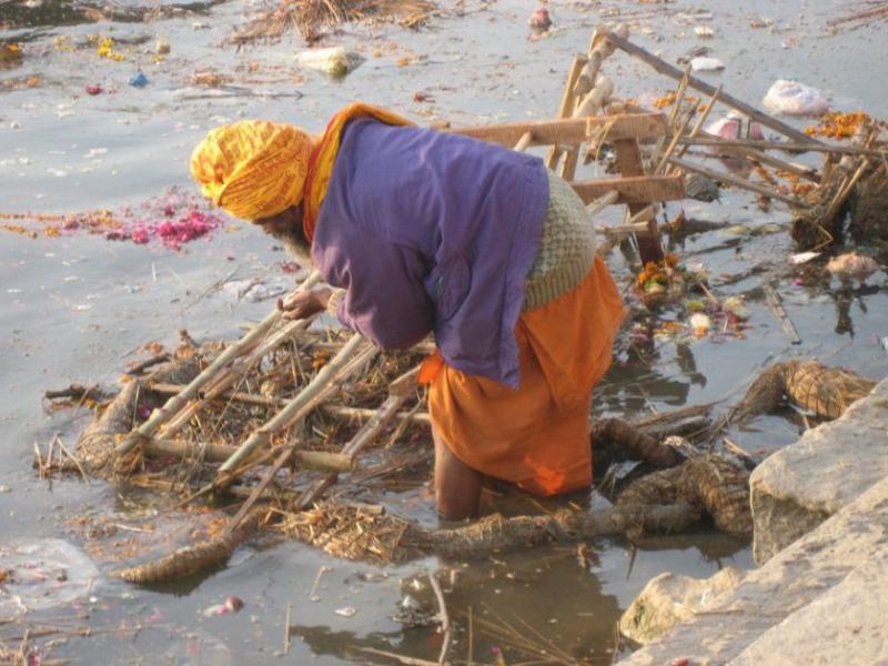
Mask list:
[[[764,564],[888,474],[888,380],[841,417],[805,432],[749,478],[755,537]]]

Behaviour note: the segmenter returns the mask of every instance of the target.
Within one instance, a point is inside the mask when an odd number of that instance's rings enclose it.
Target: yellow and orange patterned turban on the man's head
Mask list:
[[[312,140],[295,125],[243,121],[211,130],[191,154],[191,175],[229,214],[269,218],[302,201]]]

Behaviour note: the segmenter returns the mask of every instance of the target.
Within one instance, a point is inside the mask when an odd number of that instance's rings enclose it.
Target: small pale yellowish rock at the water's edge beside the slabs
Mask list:
[[[710,578],[699,579],[673,573],[652,578],[619,618],[619,630],[627,638],[647,645],[679,622],[684,622],[719,594],[733,589],[745,576],[728,566]]]

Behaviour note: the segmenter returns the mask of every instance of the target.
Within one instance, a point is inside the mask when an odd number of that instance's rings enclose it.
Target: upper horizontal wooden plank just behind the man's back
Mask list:
[[[445,129],[443,131],[512,148],[525,132],[533,134],[533,145],[576,144],[583,143],[591,135],[602,131],[602,128],[609,128],[606,135],[608,141],[652,139],[666,132],[666,118],[663,113],[626,113],[623,115],[594,115],[592,118],[473,125]]]

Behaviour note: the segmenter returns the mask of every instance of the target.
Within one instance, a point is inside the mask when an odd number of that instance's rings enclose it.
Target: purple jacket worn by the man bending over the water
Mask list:
[[[548,206],[542,160],[456,134],[354,120],[312,259],[340,320],[383,349],[430,331],[444,361],[517,389],[514,329]]]

